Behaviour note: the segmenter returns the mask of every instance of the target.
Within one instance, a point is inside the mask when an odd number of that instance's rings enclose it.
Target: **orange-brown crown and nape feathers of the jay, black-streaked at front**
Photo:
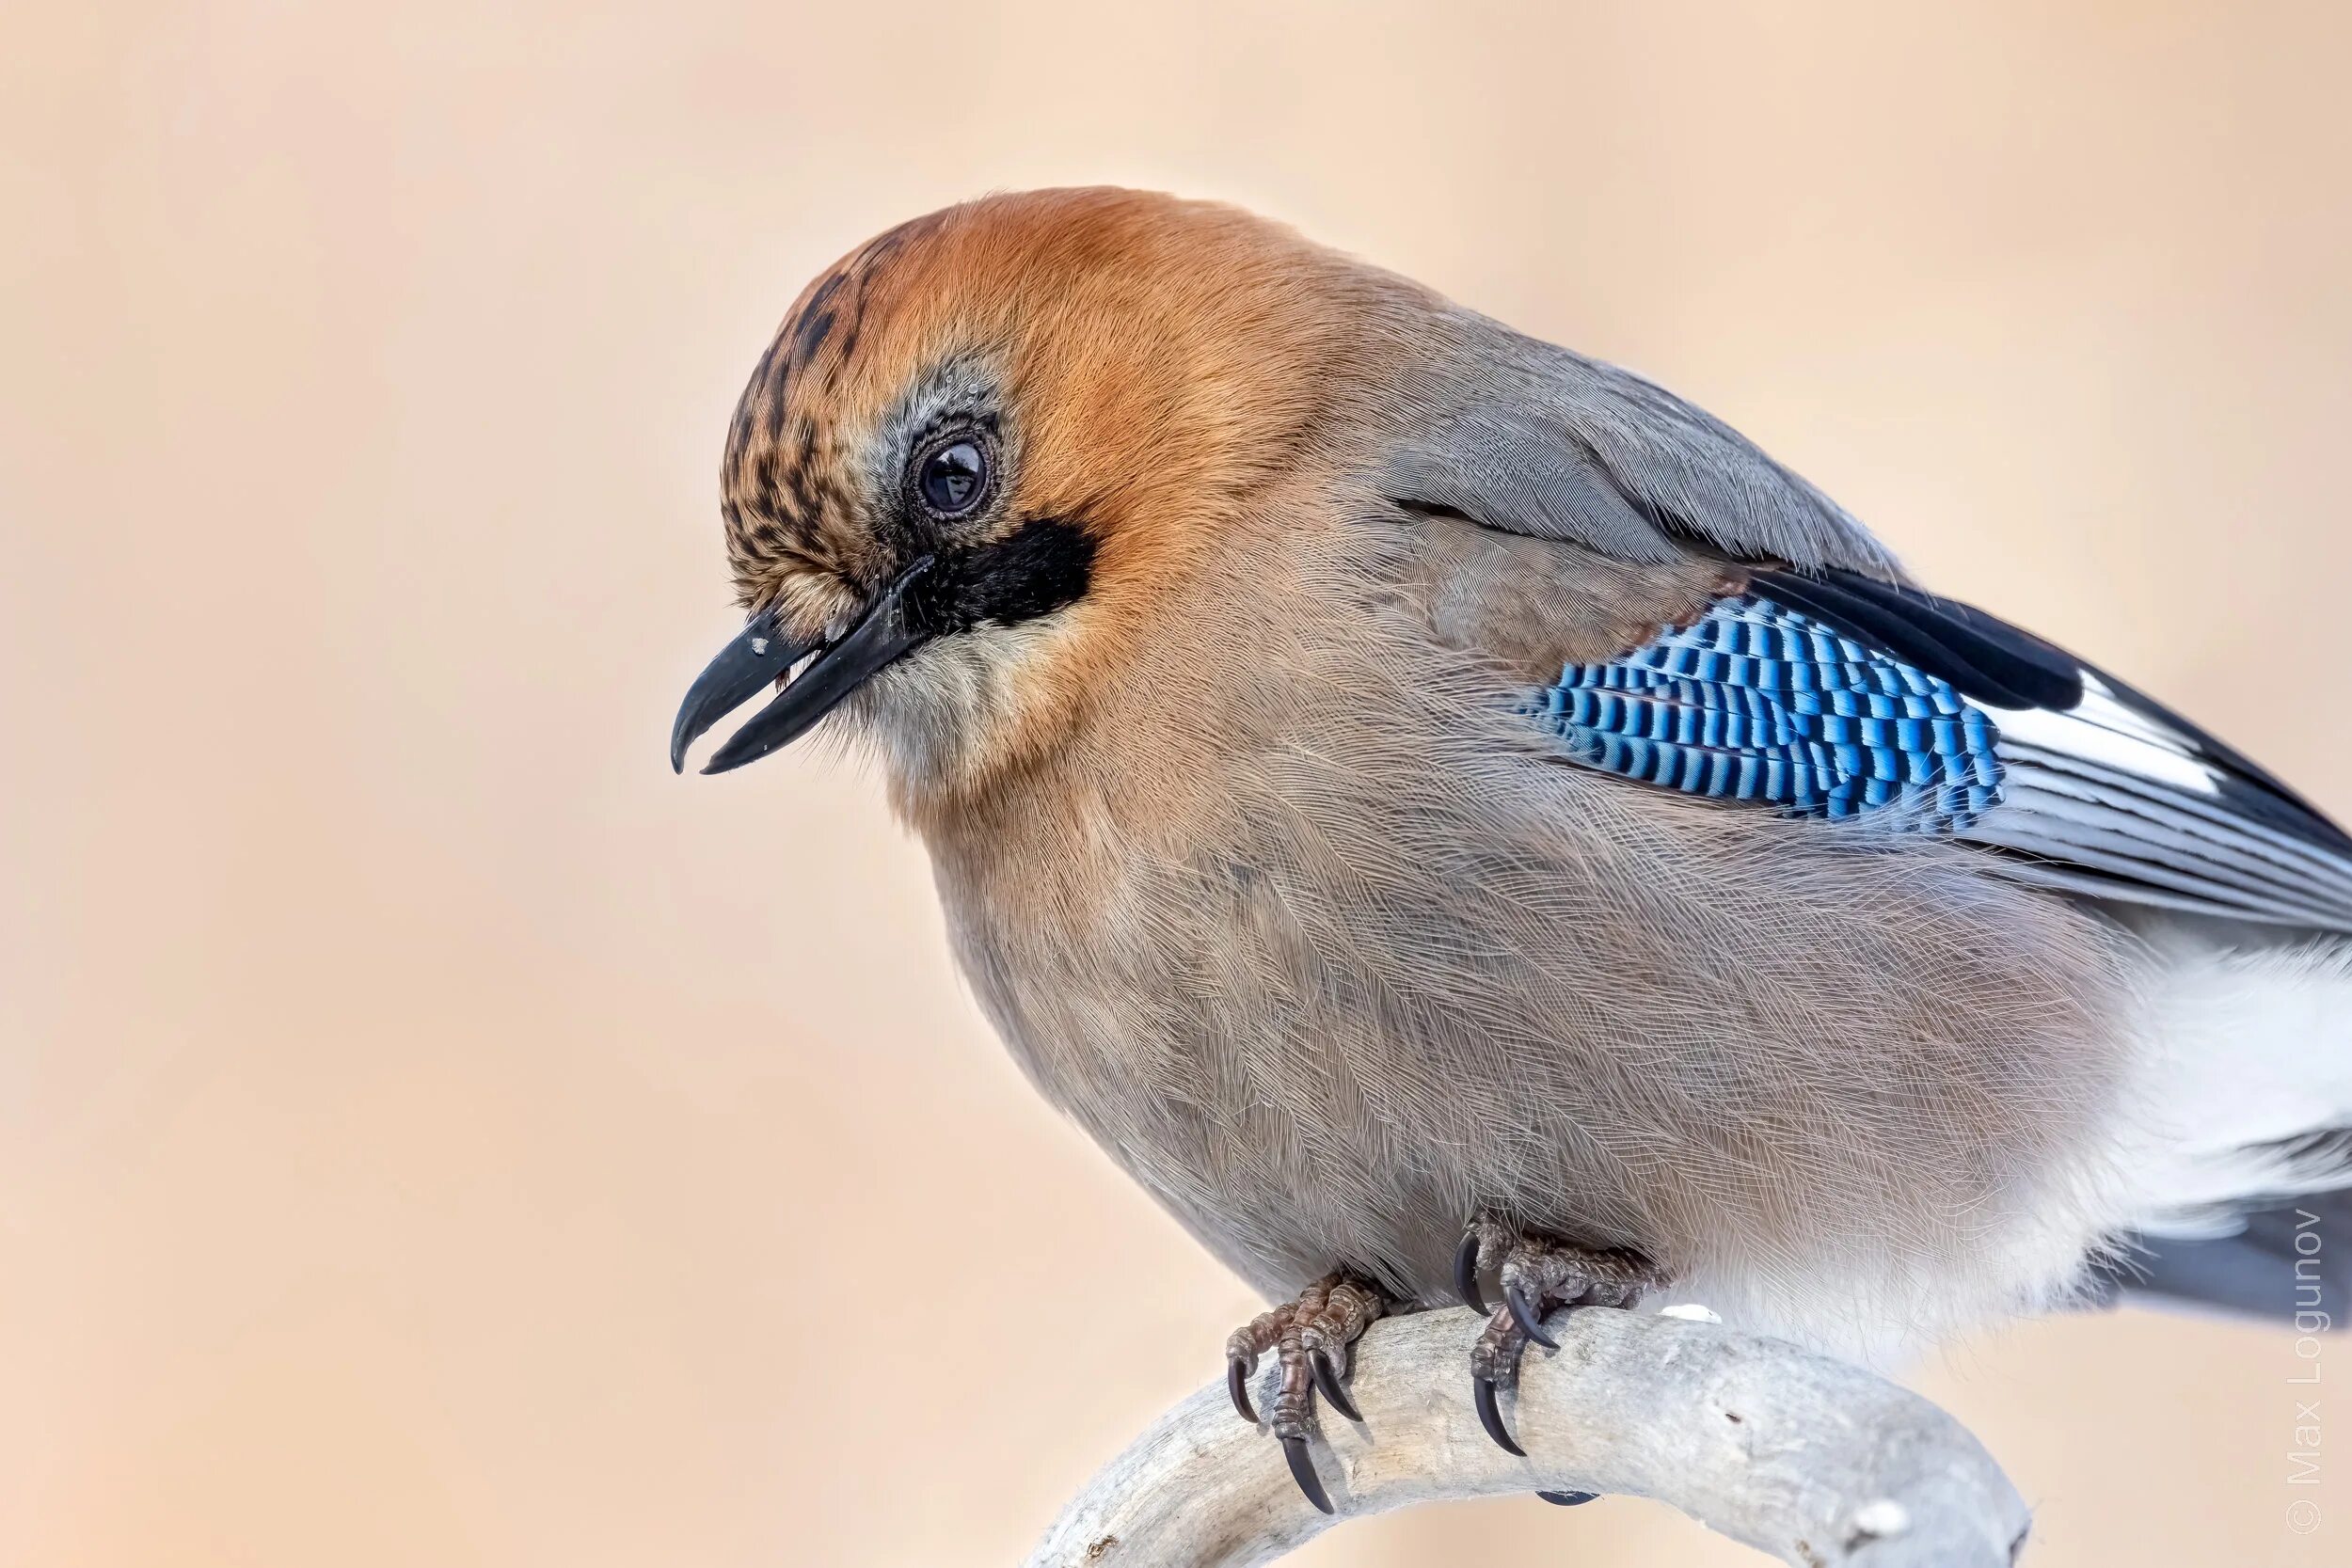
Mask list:
[[[1315,425],[1362,322],[1355,270],[1230,207],[1087,188],[993,195],[870,240],[802,292],[727,437],[746,604],[894,562],[891,435],[953,367],[1009,421],[1009,517],[1082,522],[1105,581],[1181,545]]]

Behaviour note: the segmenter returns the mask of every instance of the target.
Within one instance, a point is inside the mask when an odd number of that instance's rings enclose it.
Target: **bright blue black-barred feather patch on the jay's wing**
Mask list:
[[[1576,762],[1642,783],[1952,835],[2002,802],[1999,729],[1950,682],[1743,595],[1604,665],[1569,665],[1534,717]]]

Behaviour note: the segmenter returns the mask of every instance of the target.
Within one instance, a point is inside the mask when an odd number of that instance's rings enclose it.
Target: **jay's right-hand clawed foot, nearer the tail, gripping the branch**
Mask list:
[[[1494,1274],[1503,1305],[1489,1307],[1479,1279]],[[1512,1229],[1479,1215],[1454,1255],[1454,1288],[1486,1328],[1470,1347],[1470,1396],[1477,1420],[1505,1453],[1526,1453],[1503,1425],[1498,1392],[1519,1382],[1519,1354],[1534,1340],[1559,1349],[1543,1319],[1555,1307],[1630,1307],[1668,1274],[1642,1253],[1573,1246]],[[1538,1493],[1545,1502],[1590,1502],[1590,1493]]]

